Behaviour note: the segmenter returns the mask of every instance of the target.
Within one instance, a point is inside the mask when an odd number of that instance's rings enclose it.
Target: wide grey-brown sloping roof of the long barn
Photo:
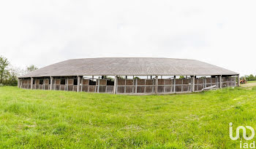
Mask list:
[[[238,73],[198,60],[102,57],[66,60],[20,78],[42,76],[215,76]]]

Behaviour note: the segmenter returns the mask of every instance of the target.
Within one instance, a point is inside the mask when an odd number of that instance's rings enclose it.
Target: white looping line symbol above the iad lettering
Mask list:
[[[238,126],[236,128],[236,137],[233,137],[233,124],[230,123],[230,139],[231,140],[238,140],[239,136],[239,131],[240,129],[243,130],[243,137],[245,140],[252,140],[255,137],[255,129],[252,128],[252,126],[245,126],[247,129],[250,129],[252,131],[252,135],[250,137],[246,137],[246,129],[244,126]]]

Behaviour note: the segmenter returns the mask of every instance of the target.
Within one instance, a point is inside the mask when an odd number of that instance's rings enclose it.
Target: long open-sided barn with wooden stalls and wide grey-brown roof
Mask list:
[[[239,86],[239,74],[198,60],[101,57],[66,60],[18,78],[22,89],[112,94],[200,92]]]

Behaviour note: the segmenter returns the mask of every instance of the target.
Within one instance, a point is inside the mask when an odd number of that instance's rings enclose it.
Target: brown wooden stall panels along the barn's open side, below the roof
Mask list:
[[[53,90],[77,92],[99,92],[113,93],[113,81],[108,79],[97,79],[92,82],[89,79],[81,79],[80,84],[77,84],[75,78],[65,78],[64,81],[60,78],[53,78]],[[216,85],[220,86],[219,78],[195,78],[195,92],[202,91],[203,88]],[[236,86],[236,76],[223,77],[222,87]],[[31,89],[31,79],[22,79],[20,88]],[[50,79],[35,78],[32,84],[32,89],[50,89]],[[192,78],[168,78],[168,79],[117,79],[116,93],[117,94],[172,94],[192,92]]]

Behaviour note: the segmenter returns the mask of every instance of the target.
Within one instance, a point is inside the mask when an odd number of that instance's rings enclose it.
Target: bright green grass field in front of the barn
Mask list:
[[[6,86],[0,120],[0,148],[239,148],[229,123],[256,128],[256,88],[132,96]]]

